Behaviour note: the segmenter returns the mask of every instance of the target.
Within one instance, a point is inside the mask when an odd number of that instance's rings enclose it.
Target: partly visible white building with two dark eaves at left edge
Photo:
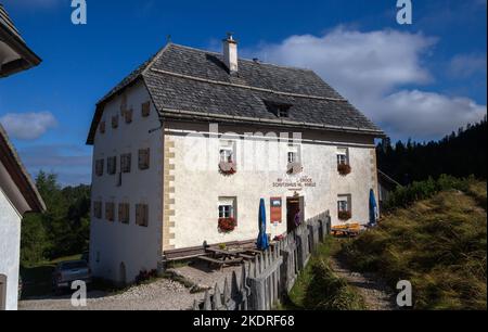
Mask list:
[[[0,4],[0,77],[39,63]],[[27,212],[44,209],[36,186],[0,125],[0,310],[17,308],[22,217]]]

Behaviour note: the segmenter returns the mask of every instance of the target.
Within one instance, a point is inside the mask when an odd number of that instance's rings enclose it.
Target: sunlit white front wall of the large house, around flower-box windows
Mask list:
[[[174,227],[170,229],[170,245],[172,248],[200,246],[206,241],[208,244],[217,244],[231,241],[246,241],[257,238],[258,234],[258,207],[260,199],[265,199],[267,218],[270,217],[270,199],[282,197],[283,222],[278,226],[268,224],[267,231],[272,237],[286,232],[286,199],[294,195],[295,191],[287,188],[275,188],[273,183],[278,179],[285,182],[295,181],[301,177],[310,178],[316,187],[304,187],[298,191],[305,197],[305,218],[313,217],[324,210],[330,210],[333,225],[341,224],[337,218],[337,197],[342,194],[350,194],[352,197],[352,219],[348,222],[368,224],[369,221],[369,193],[376,189],[374,145],[371,137],[351,135],[309,135],[304,133],[301,145],[301,162],[304,171],[297,176],[286,175],[287,142],[275,143],[280,151],[274,155],[267,150],[266,141],[237,140],[236,155],[237,174],[224,177],[218,171],[219,139],[209,139],[207,136],[188,136],[187,130],[208,132],[208,125],[182,125],[166,124],[166,141],[174,141],[174,166],[171,187],[174,193]],[[219,132],[246,132],[261,131],[265,135],[269,129],[220,127]],[[292,137],[293,133],[290,133]],[[307,142],[307,140],[310,140]],[[208,143],[209,142],[209,143]],[[208,144],[207,144],[208,143]],[[349,162],[352,173],[342,177],[337,173],[337,149],[349,149]],[[208,152],[209,151],[209,152]],[[206,153],[209,156],[210,167],[206,167]],[[269,170],[266,163],[253,159],[249,152],[255,152],[257,158],[270,158],[280,161],[275,170]],[[192,161],[188,164],[188,162]],[[246,164],[243,165],[242,162]],[[262,169],[245,168],[248,164]],[[190,168],[188,167],[190,165]],[[231,233],[218,231],[218,199],[219,196],[237,197],[236,230]]]

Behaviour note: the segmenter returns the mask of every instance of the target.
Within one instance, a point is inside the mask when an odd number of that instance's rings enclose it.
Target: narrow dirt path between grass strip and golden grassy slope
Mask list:
[[[396,310],[394,296],[389,286],[375,276],[358,273],[349,270],[346,265],[336,258],[331,258],[332,270],[341,278],[347,280],[364,299],[369,310]]]

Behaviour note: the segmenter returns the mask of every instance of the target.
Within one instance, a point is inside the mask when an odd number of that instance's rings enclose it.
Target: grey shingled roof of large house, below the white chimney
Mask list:
[[[162,118],[383,135],[312,71],[240,59],[237,74],[231,75],[221,54],[168,43],[98,103],[88,144],[104,105],[139,80]],[[288,117],[277,117],[268,103],[287,105]]]

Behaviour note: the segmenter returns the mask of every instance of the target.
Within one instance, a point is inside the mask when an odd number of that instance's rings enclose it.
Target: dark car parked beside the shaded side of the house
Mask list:
[[[91,270],[86,260],[60,263],[52,274],[52,286],[55,293],[70,289],[74,281],[91,283]]]

